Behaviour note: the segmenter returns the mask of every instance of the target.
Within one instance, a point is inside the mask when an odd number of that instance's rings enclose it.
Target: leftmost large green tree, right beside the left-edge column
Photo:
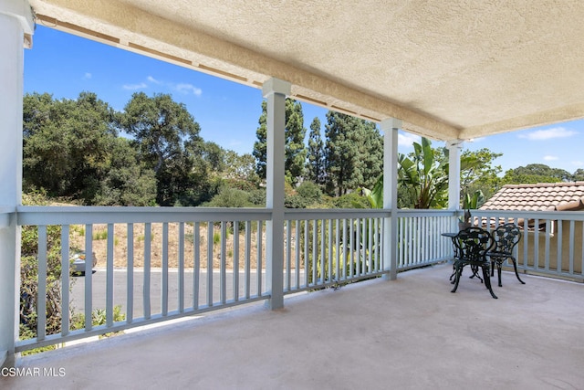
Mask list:
[[[94,93],[77,100],[26,94],[23,111],[23,188],[44,188],[93,204],[110,169],[117,138],[114,111]]]

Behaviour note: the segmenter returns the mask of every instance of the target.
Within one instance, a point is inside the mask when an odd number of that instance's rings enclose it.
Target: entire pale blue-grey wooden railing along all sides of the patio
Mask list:
[[[4,214],[0,220],[14,216]],[[264,273],[271,261],[265,242],[268,209],[26,206],[16,216],[18,225],[38,231],[38,290],[47,288],[50,271],[47,227],[60,227],[63,269],[69,267],[71,248],[85,251],[88,267],[82,277],[60,275],[61,332],[47,334],[45,316],[38,315],[36,338],[17,341],[16,351],[270,298]],[[524,235],[517,248],[521,271],[582,279],[584,213],[474,210],[473,217],[490,229],[508,220],[525,227],[535,220],[545,229]],[[287,209],[284,256],[276,259],[283,261],[284,294],[389,273],[382,256],[381,237],[390,234],[385,218],[391,213],[379,209]],[[442,233],[457,228],[454,212],[400,210],[397,218],[397,248],[391,253],[398,271],[452,258],[451,241]],[[102,266],[98,274],[90,272],[94,252]],[[72,282],[77,286],[71,290]],[[74,300],[74,293],[80,298]],[[45,313],[46,305],[47,297],[39,294],[36,311]],[[73,330],[70,313],[77,306],[86,320]],[[117,306],[121,320],[115,317]],[[92,323],[95,309],[105,311],[104,324]]]

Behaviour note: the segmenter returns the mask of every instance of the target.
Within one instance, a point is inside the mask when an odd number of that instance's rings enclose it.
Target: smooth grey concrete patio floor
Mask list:
[[[582,389],[584,285],[444,264],[19,359],[4,389]],[[465,273],[468,275],[468,271]],[[494,280],[495,281],[495,280]],[[45,369],[55,375],[46,375]],[[62,376],[59,376],[62,375]]]

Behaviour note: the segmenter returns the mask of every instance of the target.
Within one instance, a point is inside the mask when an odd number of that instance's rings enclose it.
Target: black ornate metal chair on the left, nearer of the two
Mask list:
[[[491,293],[493,298],[497,298],[493,288],[491,287],[491,279],[489,278],[490,261],[486,258],[486,253],[494,245],[493,237],[482,227],[467,227],[461,230],[454,239],[454,245],[458,252],[458,257],[454,258],[454,289],[451,292],[456,292],[458,289],[458,282],[463,275],[463,269],[470,266],[474,276],[479,277],[479,269],[483,271],[483,280],[485,286]]]

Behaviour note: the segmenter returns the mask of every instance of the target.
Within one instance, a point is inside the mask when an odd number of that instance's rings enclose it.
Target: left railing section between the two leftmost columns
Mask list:
[[[36,338],[16,343],[16,351],[266,300],[269,295],[261,272],[265,262],[262,237],[269,218],[270,211],[260,208],[21,207],[18,224],[38,229],[38,290],[47,288],[47,226],[61,228],[62,269],[69,268],[70,248],[81,247],[86,254],[86,272],[80,280],[61,272],[61,332],[47,335],[45,316],[38,315]],[[154,237],[154,230],[158,237]],[[169,245],[172,236],[176,243],[173,248]],[[105,285],[97,286],[91,265],[101,240],[105,248],[95,256],[105,258],[105,269],[100,271],[105,273]],[[232,249],[228,252],[230,242]],[[123,258],[116,258],[115,247],[124,244]],[[228,272],[228,262],[238,271]],[[114,276],[120,263],[126,273],[123,279]],[[85,323],[77,331],[70,330],[69,313],[75,309],[69,306],[73,280],[84,284]],[[137,284],[141,285],[139,290],[135,289]],[[173,289],[176,294],[171,294]],[[95,304],[98,297],[94,290],[105,296],[105,307]],[[125,297],[116,295],[120,290],[125,291]],[[139,310],[135,304],[139,304]],[[47,297],[38,294],[37,312],[44,313],[46,305]],[[114,321],[116,305],[125,309],[123,321]],[[94,309],[105,310],[104,325],[92,324]]]

